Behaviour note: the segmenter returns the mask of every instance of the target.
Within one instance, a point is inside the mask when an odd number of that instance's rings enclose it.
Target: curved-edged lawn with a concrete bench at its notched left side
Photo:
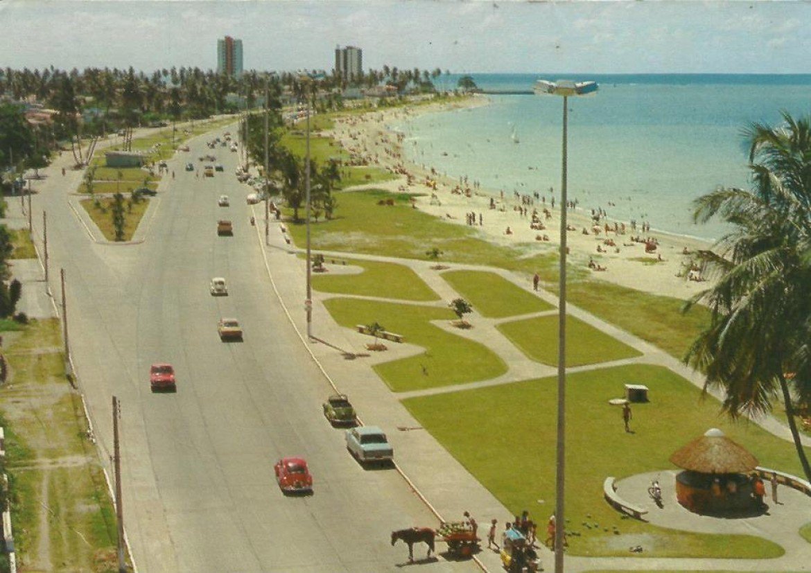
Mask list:
[[[483,344],[454,336],[430,323],[431,320],[450,322],[456,319],[456,314],[448,308],[349,298],[331,298],[324,305],[341,326],[354,329],[356,324],[380,323],[387,331],[405,336],[405,342],[426,349],[417,356],[374,367],[393,391],[422,390],[487,380],[507,371],[504,361]],[[370,336],[369,342],[372,341]]]

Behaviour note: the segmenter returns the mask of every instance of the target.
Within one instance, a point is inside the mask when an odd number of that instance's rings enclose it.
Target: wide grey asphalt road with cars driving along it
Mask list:
[[[149,573],[396,571],[406,549],[393,549],[389,532],[435,520],[393,469],[355,462],[342,430],[324,420],[330,389],[273,295],[249,189],[234,177],[238,154],[218,147],[225,173],[213,178],[183,169],[202,166],[204,139],[169,161],[175,178],[153,199],[140,244],[93,242],[67,189],[34,199],[35,213],[48,211],[52,276],[66,269],[71,353],[103,455],[112,450],[111,397],[122,403],[135,562]],[[219,195],[230,207],[217,206]],[[234,221],[233,237],[217,237],[218,218]],[[228,297],[209,294],[212,276],[225,276]],[[221,317],[240,320],[242,343],[219,340]],[[175,366],[176,394],[150,391],[157,361]],[[281,494],[272,465],[283,455],[308,460],[312,496]],[[441,558],[423,567],[475,569]]]

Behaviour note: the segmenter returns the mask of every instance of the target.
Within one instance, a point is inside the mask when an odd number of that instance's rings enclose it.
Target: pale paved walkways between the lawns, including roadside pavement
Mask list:
[[[306,325],[304,323],[303,306],[300,301],[303,301],[305,284],[304,274],[305,267],[302,259],[298,259],[296,254],[300,250],[295,246],[290,246],[285,243],[284,233],[281,230],[281,224],[272,223],[270,237],[270,245],[266,247],[268,256],[268,267],[270,274],[276,285],[277,292],[283,301],[290,308],[291,319],[301,332],[306,332]],[[260,240],[264,240],[260,236]],[[404,265],[413,270],[422,280],[424,280],[431,289],[440,296],[440,301],[436,302],[418,302],[414,304],[428,305],[428,306],[441,306],[445,307],[448,300],[460,296],[453,288],[441,277],[441,272],[432,270],[430,267],[435,264],[431,262],[418,261],[412,259],[393,259],[388,257],[380,257],[373,255],[363,254],[346,254],[345,252],[323,252],[327,259],[327,267],[329,259],[366,259],[382,262],[391,262]],[[478,270],[484,272],[494,272],[504,279],[517,284],[517,286],[530,290],[531,286],[521,276],[517,276],[512,272],[507,272],[501,269],[490,267],[478,267],[473,265],[453,264],[449,265],[453,270]],[[351,268],[351,267],[350,267]],[[349,269],[346,267],[334,267],[336,271],[341,273],[347,272]],[[553,306],[557,306],[557,297],[552,293],[546,291],[539,291],[537,293],[543,300],[550,302]],[[375,418],[380,420],[391,419],[393,424],[400,428],[418,428],[418,422],[410,417],[410,414],[404,411],[400,406],[400,400],[412,396],[428,396],[432,394],[460,391],[475,387],[485,387],[504,383],[513,383],[528,378],[538,378],[543,376],[552,376],[556,374],[556,368],[553,366],[546,366],[538,362],[531,361],[525,354],[521,353],[500,331],[496,329],[496,325],[505,320],[515,320],[517,318],[529,318],[530,316],[543,315],[543,314],[556,314],[556,310],[543,311],[534,314],[527,314],[521,317],[509,317],[508,319],[488,319],[474,311],[470,320],[476,327],[470,330],[459,330],[450,327],[447,323],[436,323],[436,326],[443,327],[448,331],[452,331],[457,336],[465,336],[471,340],[477,340],[487,345],[494,353],[498,354],[508,365],[508,372],[498,378],[480,381],[476,383],[461,384],[452,387],[439,387],[430,388],[427,390],[398,392],[393,393],[388,391],[380,380],[376,379],[374,374],[369,374],[371,366],[374,361],[390,361],[399,357],[411,355],[414,353],[423,352],[421,347],[416,347],[410,344],[389,344],[389,352],[385,357],[371,357],[371,359],[348,361],[337,353],[335,349],[341,349],[343,352],[348,353],[363,353],[365,344],[369,341],[368,337],[354,330],[340,327],[330,318],[327,310],[324,308],[323,303],[330,297],[348,297],[350,295],[337,295],[332,293],[313,293],[313,335],[321,340],[328,341],[330,345],[326,344],[310,344],[311,351],[316,360],[320,361],[324,366],[324,370],[328,376],[333,379],[337,387],[341,391],[346,391],[350,396],[360,397],[360,404],[358,404],[360,411],[363,413],[373,412]],[[375,298],[377,300],[390,300],[384,297],[358,297],[358,298]],[[643,363],[656,366],[664,366],[680,374],[688,379],[695,386],[702,388],[703,379],[700,374],[697,374],[684,366],[680,361],[663,353],[663,351],[655,348],[653,345],[646,343],[644,340],[638,339],[629,332],[622,331],[619,328],[605,323],[602,320],[578,309],[576,306],[568,306],[569,314],[581,319],[583,322],[590,324],[592,327],[598,328],[600,331],[613,336],[624,344],[628,344],[633,349],[637,349],[642,355],[640,357],[629,358],[620,361],[602,362],[598,364],[591,364],[587,366],[579,366],[570,368],[569,372],[577,370],[595,370],[602,369],[610,366],[619,366],[621,364],[630,363]],[[365,367],[364,367],[365,365]],[[358,378],[360,376],[360,378]],[[356,391],[357,390],[357,391]],[[371,396],[370,396],[371,392]],[[716,396],[717,393],[715,393]],[[399,406],[399,407],[398,407]],[[367,420],[371,423],[379,423],[377,420]],[[791,439],[787,426],[774,417],[762,417],[757,420],[757,423],[762,425],[766,430],[775,434],[779,438]],[[401,440],[401,435],[394,436],[395,447],[398,451],[398,459],[401,467],[404,468],[414,485],[426,496],[426,498],[435,504],[436,510],[446,520],[459,519],[461,512],[468,509],[477,517],[482,528],[487,527],[487,523],[493,517],[500,521],[500,531],[503,529],[504,520],[508,519],[509,512],[505,507],[501,507],[497,500],[493,499],[491,494],[484,490],[484,488],[474,480],[472,476],[464,468],[456,464],[455,460],[451,459],[448,462],[447,454],[444,454],[444,449],[439,443],[436,443],[430,435],[423,432],[406,432],[409,434],[409,447],[397,448],[398,443],[405,442]],[[405,434],[405,433],[404,433]],[[414,434],[418,435],[418,439],[414,438]],[[415,442],[419,442],[419,446],[415,447]],[[805,440],[806,443],[811,443]],[[436,451],[437,448],[440,451]],[[416,453],[416,455],[414,455]],[[444,454],[444,455],[443,455]],[[436,467],[442,464],[443,473],[438,476]],[[663,476],[670,470],[663,470],[658,475]],[[675,474],[674,474],[675,475]],[[620,495],[627,497],[629,502],[636,503],[637,505],[648,506],[650,499],[645,499],[647,486],[653,479],[650,475],[641,475],[630,477],[627,480],[618,482]],[[667,482],[668,478],[664,478],[663,482]],[[672,482],[672,480],[671,480]],[[639,493],[642,493],[642,499],[637,499]],[[783,492],[785,492],[783,494]],[[775,541],[786,549],[786,554],[783,558],[762,560],[762,559],[696,559],[696,558],[640,558],[638,556],[631,556],[629,558],[582,558],[582,557],[567,557],[566,558],[566,571],[591,571],[595,569],[618,569],[618,570],[635,570],[635,571],[656,571],[661,569],[673,570],[731,570],[731,571],[811,571],[811,544],[800,537],[798,529],[802,524],[811,521],[811,498],[806,497],[795,490],[789,490],[786,487],[781,487],[781,494],[783,494],[786,502],[784,505],[775,507],[770,510],[769,515],[762,515],[757,518],[750,518],[747,520],[740,520],[731,526],[731,520],[721,520],[714,518],[699,517],[684,510],[675,500],[675,494],[668,491],[666,488],[666,495],[672,497],[668,498],[665,511],[654,513],[651,511],[651,522],[654,524],[662,525],[669,528],[683,528],[693,531],[706,531],[706,532],[740,532],[754,534],[771,541]],[[603,502],[602,499],[599,500]],[[658,508],[656,508],[657,511]],[[486,535],[486,530],[482,536]],[[488,571],[500,571],[500,559],[495,552],[483,549],[478,555],[478,558],[486,567]],[[551,568],[553,558],[551,552],[546,548],[541,549],[541,559],[547,571]],[[806,568],[804,568],[806,567]]]

